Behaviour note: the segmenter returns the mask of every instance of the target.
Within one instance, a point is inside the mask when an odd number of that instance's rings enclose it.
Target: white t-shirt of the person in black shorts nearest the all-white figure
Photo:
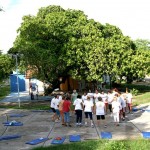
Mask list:
[[[105,103],[102,101],[96,102],[96,115],[105,115]]]

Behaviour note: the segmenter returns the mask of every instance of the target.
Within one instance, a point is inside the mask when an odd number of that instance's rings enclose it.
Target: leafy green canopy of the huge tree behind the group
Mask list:
[[[104,74],[137,77],[146,73],[141,70],[147,65],[146,55],[118,27],[60,6],[24,16],[11,52],[24,54],[25,65],[35,70],[35,76],[50,82],[68,75],[101,81]]]

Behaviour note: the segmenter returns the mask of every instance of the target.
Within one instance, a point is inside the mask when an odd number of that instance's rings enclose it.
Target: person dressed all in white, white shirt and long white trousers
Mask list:
[[[120,111],[120,103],[117,101],[117,97],[115,96],[112,102],[112,111],[113,111],[113,117],[114,122],[116,126],[119,126],[119,111]]]

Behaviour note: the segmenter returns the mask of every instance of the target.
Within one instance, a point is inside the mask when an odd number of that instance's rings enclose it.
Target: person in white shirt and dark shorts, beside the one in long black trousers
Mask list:
[[[87,100],[84,101],[83,103],[84,105],[84,113],[85,113],[85,126],[88,125],[88,116],[90,117],[90,122],[91,122],[91,127],[94,127],[93,124],[93,116],[92,116],[92,112],[93,112],[93,102],[90,100],[90,97],[87,97]]]

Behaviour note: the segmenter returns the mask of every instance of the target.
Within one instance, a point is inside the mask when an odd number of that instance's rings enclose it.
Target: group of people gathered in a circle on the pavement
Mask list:
[[[61,120],[62,125],[70,126],[70,116],[76,115],[76,126],[82,126],[83,112],[85,115],[84,125],[94,127],[93,115],[96,115],[97,126],[100,125],[100,120],[103,121],[104,127],[107,127],[105,116],[108,110],[114,118],[114,123],[119,126],[120,120],[125,120],[125,113],[127,110],[129,113],[132,110],[132,94],[126,90],[125,93],[119,92],[117,89],[99,92],[95,90],[95,93],[91,91],[84,92],[83,95],[78,94],[76,90],[73,93],[61,95],[55,95],[51,100],[50,107],[53,111],[52,120],[59,122]]]

